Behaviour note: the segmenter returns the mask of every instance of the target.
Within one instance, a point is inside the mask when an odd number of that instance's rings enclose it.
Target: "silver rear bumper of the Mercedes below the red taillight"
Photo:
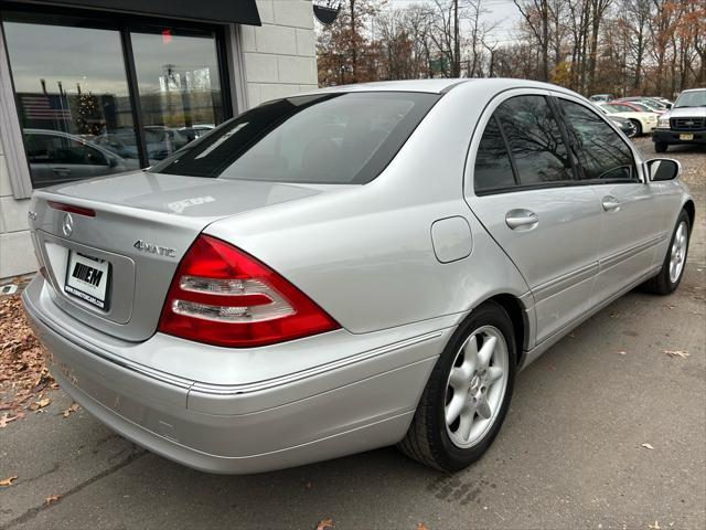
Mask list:
[[[214,385],[114,356],[57,326],[60,309],[41,277],[23,301],[52,374],[76,402],[126,438],[212,473],[259,473],[398,442],[452,332],[427,332],[310,377]]]

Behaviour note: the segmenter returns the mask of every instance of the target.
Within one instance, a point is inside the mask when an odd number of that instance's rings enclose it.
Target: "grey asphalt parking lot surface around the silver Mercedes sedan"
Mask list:
[[[637,144],[654,156],[650,138]],[[64,417],[72,402],[56,390],[0,430],[0,479],[18,477],[0,488],[0,529],[314,529],[325,519],[336,530],[705,528],[706,150],[667,156],[682,162],[697,210],[678,292],[630,293],[554,346],[520,375],[494,445],[464,471],[385,448],[207,475],[84,411]]]

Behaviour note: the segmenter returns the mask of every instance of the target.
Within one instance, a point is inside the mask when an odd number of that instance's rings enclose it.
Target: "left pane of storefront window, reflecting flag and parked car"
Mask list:
[[[139,168],[119,33],[9,18],[3,30],[34,187]]]

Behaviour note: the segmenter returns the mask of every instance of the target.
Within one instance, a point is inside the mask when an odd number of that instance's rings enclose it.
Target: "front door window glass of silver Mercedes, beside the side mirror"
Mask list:
[[[635,180],[634,157],[628,145],[596,113],[559,99],[569,145],[579,161],[580,180]]]

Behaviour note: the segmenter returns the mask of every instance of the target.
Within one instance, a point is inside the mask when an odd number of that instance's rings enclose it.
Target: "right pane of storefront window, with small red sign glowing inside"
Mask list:
[[[165,28],[132,32],[130,41],[153,163],[224,121],[216,40]]]

